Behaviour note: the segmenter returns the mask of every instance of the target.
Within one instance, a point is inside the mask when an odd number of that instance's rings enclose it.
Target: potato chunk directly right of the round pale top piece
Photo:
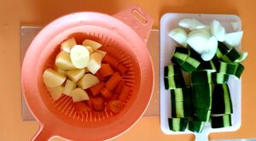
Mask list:
[[[101,66],[102,66],[102,55],[99,53],[90,54],[90,61],[87,66],[88,70],[92,74],[96,74],[96,72],[101,68]]]

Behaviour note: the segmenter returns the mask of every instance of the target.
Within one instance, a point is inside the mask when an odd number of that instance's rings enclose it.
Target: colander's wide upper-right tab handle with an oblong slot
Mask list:
[[[137,5],[133,5],[118,14],[113,14],[113,17],[123,21],[129,25],[137,34],[143,39],[144,42],[148,42],[150,29],[153,25],[153,19],[146,14],[142,8]]]

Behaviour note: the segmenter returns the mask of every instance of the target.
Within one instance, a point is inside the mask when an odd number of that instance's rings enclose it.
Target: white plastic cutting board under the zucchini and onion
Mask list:
[[[225,27],[227,32],[234,31],[230,22],[237,22],[236,31],[241,31],[241,20],[234,14],[164,14],[160,20],[160,127],[166,134],[192,133],[188,129],[185,132],[172,132],[168,127],[168,118],[171,113],[171,94],[164,85],[164,66],[171,64],[174,48],[177,42],[167,36],[168,31],[176,28],[178,21],[184,18],[195,18],[204,24],[210,24],[212,20],[218,20]],[[240,49],[241,47],[238,47]],[[233,103],[233,114],[231,116],[232,127],[212,129],[210,122],[205,124],[202,133],[195,133],[195,140],[207,140],[209,133],[232,132],[241,127],[241,80],[230,76],[228,82],[230,95]]]

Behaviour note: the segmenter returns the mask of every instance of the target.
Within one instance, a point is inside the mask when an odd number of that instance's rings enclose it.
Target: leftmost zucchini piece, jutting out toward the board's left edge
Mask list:
[[[166,89],[175,89],[179,87],[185,87],[185,81],[183,75],[168,76],[164,78]]]

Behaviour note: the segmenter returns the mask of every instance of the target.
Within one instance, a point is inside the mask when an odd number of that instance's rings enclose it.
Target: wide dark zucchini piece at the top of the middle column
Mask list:
[[[191,84],[212,84],[212,73],[208,71],[193,71]]]

